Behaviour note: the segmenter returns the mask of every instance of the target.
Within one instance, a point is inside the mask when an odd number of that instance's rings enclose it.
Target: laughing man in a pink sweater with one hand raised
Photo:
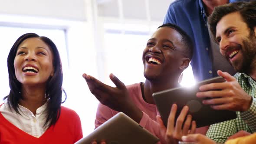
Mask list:
[[[130,118],[138,122],[142,127],[150,131],[160,139],[161,144],[169,140],[162,133],[156,116],[159,115],[154,103],[152,93],[168,88],[180,86],[179,76],[189,65],[193,54],[193,44],[190,37],[178,26],[164,24],[148,40],[144,49],[142,60],[144,64],[145,82],[125,86],[118,78],[110,74],[109,77],[116,87],[105,85],[91,75],[83,74],[90,91],[100,101],[95,119],[95,128],[103,124],[122,111]],[[125,65],[125,64],[124,64]],[[129,76],[129,72],[127,72]],[[175,107],[175,106],[174,106]],[[188,107],[183,108],[187,114]],[[181,140],[182,135],[188,134],[190,125],[191,133],[195,132],[195,121],[191,121],[191,115],[179,116],[180,121],[174,133],[173,139]],[[187,125],[182,128],[183,121]],[[183,133],[177,134],[177,131]]]

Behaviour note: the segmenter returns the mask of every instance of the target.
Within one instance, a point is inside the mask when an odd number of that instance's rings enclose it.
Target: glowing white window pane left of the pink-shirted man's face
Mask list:
[[[105,33],[105,78],[109,85],[113,86],[110,73],[125,85],[145,82],[142,52],[147,40],[148,35]]]

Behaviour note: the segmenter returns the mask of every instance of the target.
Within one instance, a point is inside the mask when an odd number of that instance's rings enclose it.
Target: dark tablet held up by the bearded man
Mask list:
[[[197,128],[236,118],[235,111],[214,110],[210,105],[203,105],[202,100],[205,98],[196,97],[201,85],[215,82],[225,82],[225,79],[215,77],[199,82],[192,87],[171,88],[153,93],[154,101],[165,126],[167,126],[167,119],[173,104],[177,104],[176,119],[180,115],[182,108],[187,105],[189,107],[188,114],[192,115],[192,120],[196,121]]]

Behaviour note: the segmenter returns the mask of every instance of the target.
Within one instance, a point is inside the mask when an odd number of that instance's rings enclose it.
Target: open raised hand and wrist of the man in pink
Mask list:
[[[115,75],[110,74],[109,78],[116,87],[111,87],[100,82],[90,75],[83,74],[90,91],[103,105],[115,111],[122,111],[130,118],[139,123],[142,118],[142,111],[134,104],[124,83]]]

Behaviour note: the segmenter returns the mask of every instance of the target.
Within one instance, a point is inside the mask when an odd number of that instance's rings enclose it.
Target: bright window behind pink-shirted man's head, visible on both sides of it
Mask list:
[[[143,75],[142,53],[151,34],[157,29],[141,25],[105,25],[105,82],[115,86],[108,75],[113,73],[125,85],[145,82]],[[191,66],[184,70],[181,85],[190,86],[195,83]]]

